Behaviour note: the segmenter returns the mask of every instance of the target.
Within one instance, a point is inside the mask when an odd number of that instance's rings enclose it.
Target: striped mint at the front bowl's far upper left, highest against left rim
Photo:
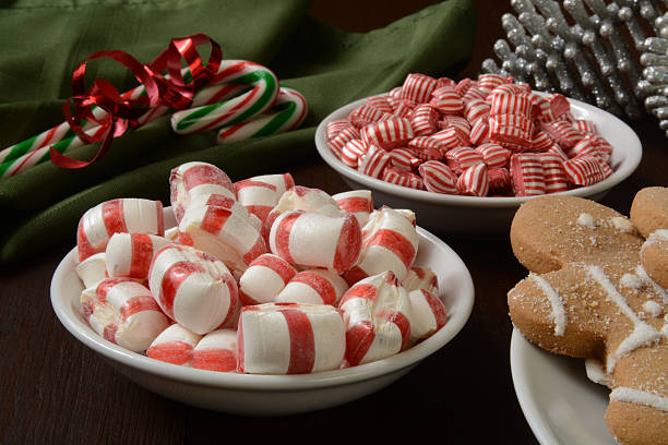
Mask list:
[[[163,203],[124,197],[104,202],[86,211],[76,229],[79,261],[104,252],[109,238],[117,232],[164,236]]]

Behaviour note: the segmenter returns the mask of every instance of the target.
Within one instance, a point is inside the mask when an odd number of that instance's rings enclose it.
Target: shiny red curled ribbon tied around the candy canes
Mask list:
[[[206,63],[196,50],[198,46],[211,44],[211,56]],[[109,58],[128,68],[138,82],[144,86],[146,95],[131,98],[120,94],[109,82],[97,79],[85,91],[86,63],[90,60]],[[192,80],[186,82],[181,74],[181,59],[188,64]],[[51,163],[68,169],[86,167],[102,158],[114,137],[123,135],[129,129],[140,127],[138,119],[148,109],[165,105],[172,109],[188,108],[194,93],[208,84],[220,67],[223,51],[220,46],[204,34],[171,39],[165,49],[148,65],[139,62],[126,51],[97,51],[86,58],[72,73],[72,92],[63,105],[63,115],[74,133],[86,144],[102,141],[97,154],[91,160],[79,160],[63,155],[52,146],[49,148]],[[168,76],[163,75],[167,71]],[[93,115],[93,106],[106,111],[103,118]],[[99,125],[95,135],[88,135],[82,122],[92,121]]]

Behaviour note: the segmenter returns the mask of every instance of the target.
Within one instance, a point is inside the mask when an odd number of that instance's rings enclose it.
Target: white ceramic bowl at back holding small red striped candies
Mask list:
[[[418,224],[429,230],[478,234],[508,232],[515,211],[530,197],[458,196],[413,190],[371,178],[343,164],[327,147],[326,125],[333,120],[345,119],[365,100],[366,98],[354,101],[333,111],[320,123],[315,132],[318,153],[350,188],[371,190],[377,205],[413,209],[418,216]],[[598,132],[612,144],[611,164],[615,173],[596,184],[562,193],[598,201],[637,168],[642,145],[633,130],[617,117],[580,100],[569,101],[575,118],[593,121]]]

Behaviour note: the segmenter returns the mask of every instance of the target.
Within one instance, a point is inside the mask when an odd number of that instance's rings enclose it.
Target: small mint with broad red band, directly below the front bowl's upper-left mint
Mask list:
[[[110,277],[145,279],[155,254],[171,241],[147,233],[114,233],[105,252]]]

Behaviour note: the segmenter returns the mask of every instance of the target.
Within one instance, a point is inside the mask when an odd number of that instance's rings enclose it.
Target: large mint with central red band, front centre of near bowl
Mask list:
[[[306,374],[341,368],[346,349],[341,312],[329,304],[243,306],[237,372]]]

